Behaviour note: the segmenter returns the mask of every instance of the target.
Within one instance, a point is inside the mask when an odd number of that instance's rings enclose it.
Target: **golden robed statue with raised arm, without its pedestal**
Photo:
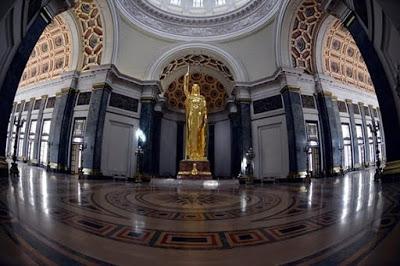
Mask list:
[[[183,89],[186,95],[186,160],[207,160],[206,132],[207,132],[207,103],[204,96],[200,95],[199,84],[193,84],[189,91],[190,69],[184,77]]]

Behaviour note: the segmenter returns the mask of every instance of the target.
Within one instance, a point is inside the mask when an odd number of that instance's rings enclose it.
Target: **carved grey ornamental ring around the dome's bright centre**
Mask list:
[[[234,11],[214,16],[184,16],[166,12],[146,0],[116,0],[134,24],[168,39],[206,41],[234,38],[265,25],[279,0],[252,0]]]

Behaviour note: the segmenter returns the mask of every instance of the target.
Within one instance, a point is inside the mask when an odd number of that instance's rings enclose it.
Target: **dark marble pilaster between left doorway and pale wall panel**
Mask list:
[[[101,153],[104,121],[111,87],[108,84],[95,84],[90,97],[86,130],[85,149],[82,152],[82,168],[86,178],[101,177]]]

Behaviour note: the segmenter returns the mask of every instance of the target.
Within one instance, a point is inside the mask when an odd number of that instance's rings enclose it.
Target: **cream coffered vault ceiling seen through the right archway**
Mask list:
[[[375,91],[360,50],[339,20],[327,32],[323,55],[326,74],[343,83]]]

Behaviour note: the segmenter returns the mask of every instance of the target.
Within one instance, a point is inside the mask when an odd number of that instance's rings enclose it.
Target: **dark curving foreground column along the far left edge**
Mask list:
[[[29,56],[50,21],[51,18],[43,13],[32,22],[31,27],[27,30],[26,35],[18,46],[12,63],[8,66],[6,77],[0,88],[0,177],[8,176],[8,164],[5,161],[7,127],[15,93]]]

